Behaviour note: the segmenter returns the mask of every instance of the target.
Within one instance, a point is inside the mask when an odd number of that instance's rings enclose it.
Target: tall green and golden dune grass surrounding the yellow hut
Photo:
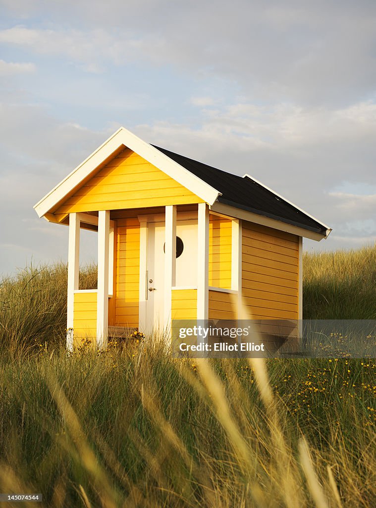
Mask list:
[[[375,250],[334,253],[335,277],[330,257],[304,257],[304,317],[353,317],[355,300],[354,317],[374,317]],[[376,505],[374,360],[177,361],[137,341],[67,358],[65,279],[28,269],[0,289],[0,492],[56,507]]]

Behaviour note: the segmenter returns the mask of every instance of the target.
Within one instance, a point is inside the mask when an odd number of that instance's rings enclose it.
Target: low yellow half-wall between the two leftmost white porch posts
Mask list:
[[[91,339],[92,346],[96,342],[96,301],[97,294],[75,293],[73,313],[73,338],[75,346],[82,344],[85,338]]]

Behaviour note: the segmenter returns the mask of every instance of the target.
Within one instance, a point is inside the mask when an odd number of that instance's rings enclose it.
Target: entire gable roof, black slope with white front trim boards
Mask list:
[[[249,175],[227,173],[172,151],[150,145],[123,127],[97,148],[35,206],[40,217],[61,203],[121,147],[127,147],[213,206],[223,203],[326,238],[331,229]],[[278,228],[277,228],[278,229]],[[296,233],[301,235],[302,233]],[[304,235],[303,235],[304,236]],[[310,236],[310,235],[307,235]],[[317,238],[318,237],[318,238]]]

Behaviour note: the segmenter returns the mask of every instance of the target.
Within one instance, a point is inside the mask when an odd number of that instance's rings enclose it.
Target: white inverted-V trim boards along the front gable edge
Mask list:
[[[34,206],[38,215],[42,217],[48,213],[51,208],[63,200],[65,196],[95,171],[95,169],[121,147],[121,145],[141,155],[146,161],[153,164],[171,178],[174,178],[174,180],[188,188],[193,194],[209,205],[212,205],[218,196],[221,196],[218,190],[193,173],[190,173],[187,169],[180,166],[180,164],[170,159],[157,148],[154,148],[154,146],[149,145],[149,143],[146,143],[127,131],[124,127],[120,127],[108,140],[100,145],[84,162],[61,180],[60,183]]]

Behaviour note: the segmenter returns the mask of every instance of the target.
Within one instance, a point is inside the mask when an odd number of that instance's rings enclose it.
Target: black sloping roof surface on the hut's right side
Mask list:
[[[162,153],[201,180],[215,187],[221,194],[217,198],[218,202],[280,220],[286,224],[313,231],[323,236],[328,235],[327,230],[330,229],[328,226],[320,223],[315,217],[293,205],[251,176],[233,175],[164,148],[158,146],[155,146],[155,148],[158,148]]]

